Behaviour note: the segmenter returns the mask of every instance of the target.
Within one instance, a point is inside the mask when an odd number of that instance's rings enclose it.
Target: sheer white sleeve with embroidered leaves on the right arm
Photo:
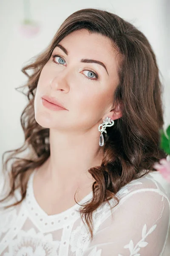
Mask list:
[[[170,201],[154,189],[131,192],[99,227],[83,256],[160,256],[170,226]]]

